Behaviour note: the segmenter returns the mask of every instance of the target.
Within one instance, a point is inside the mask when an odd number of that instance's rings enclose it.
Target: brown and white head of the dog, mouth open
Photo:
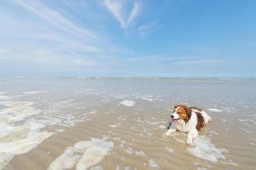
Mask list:
[[[179,120],[183,120],[185,123],[191,118],[192,110],[184,105],[176,105],[174,111],[171,114],[172,122],[175,123]]]

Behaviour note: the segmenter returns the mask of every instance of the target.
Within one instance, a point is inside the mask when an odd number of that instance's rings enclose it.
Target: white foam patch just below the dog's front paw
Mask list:
[[[216,148],[210,139],[204,136],[199,136],[194,141],[195,148],[187,147],[187,151],[197,156],[198,158],[208,160],[212,163],[217,163],[218,159],[226,159],[222,152],[228,152],[224,148]]]

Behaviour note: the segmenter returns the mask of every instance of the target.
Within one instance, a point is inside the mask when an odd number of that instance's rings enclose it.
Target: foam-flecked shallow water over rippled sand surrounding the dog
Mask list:
[[[0,168],[254,169],[255,79],[0,78]],[[174,105],[212,117],[163,137]]]

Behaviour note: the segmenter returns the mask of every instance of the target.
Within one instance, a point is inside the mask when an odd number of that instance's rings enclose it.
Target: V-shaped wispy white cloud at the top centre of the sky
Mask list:
[[[123,28],[126,28],[129,26],[129,24],[137,17],[139,14],[139,10],[141,7],[140,2],[134,2],[133,8],[131,9],[131,12],[129,14],[129,17],[125,19],[125,1],[122,0],[105,0],[104,4],[109,9],[110,12],[112,12],[117,18],[117,20],[121,23],[121,26]]]

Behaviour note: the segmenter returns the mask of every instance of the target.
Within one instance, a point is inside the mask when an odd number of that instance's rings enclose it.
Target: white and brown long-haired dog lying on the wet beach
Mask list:
[[[210,116],[199,108],[176,105],[171,114],[171,128],[164,133],[164,136],[170,136],[174,131],[188,133],[187,144],[193,146],[193,139],[198,135],[198,131],[208,124]]]

